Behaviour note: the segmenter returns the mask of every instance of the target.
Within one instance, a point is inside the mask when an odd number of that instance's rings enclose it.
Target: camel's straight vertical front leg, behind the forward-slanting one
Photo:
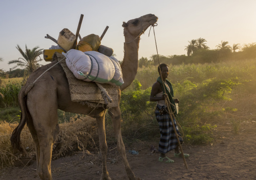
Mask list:
[[[105,132],[105,114],[106,110],[102,112],[102,116],[96,117],[96,122],[98,126],[99,142],[100,142],[100,152],[102,156],[102,173],[101,180],[111,180],[107,171],[107,142],[106,142],[106,132]]]

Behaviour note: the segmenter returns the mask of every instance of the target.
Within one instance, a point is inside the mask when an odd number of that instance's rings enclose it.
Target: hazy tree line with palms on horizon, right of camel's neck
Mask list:
[[[217,63],[226,60],[243,60],[243,59],[255,59],[256,58],[256,43],[245,44],[233,44],[231,47],[227,41],[221,41],[216,46],[216,49],[211,50],[204,38],[193,39],[188,41],[188,45],[185,46],[187,55],[152,55],[149,59],[142,57],[139,60],[139,67],[148,67],[151,65],[158,65],[158,59],[160,63],[179,65],[179,64],[204,64],[204,63]]]

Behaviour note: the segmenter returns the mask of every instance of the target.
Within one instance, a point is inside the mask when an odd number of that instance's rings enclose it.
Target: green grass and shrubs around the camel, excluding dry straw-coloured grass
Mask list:
[[[232,119],[239,119],[241,116],[248,116],[248,119],[254,117],[249,112],[253,114],[251,107],[255,107],[255,67],[255,60],[169,65],[168,80],[173,85],[175,98],[180,101],[177,121],[184,132],[183,139],[186,142],[211,142],[213,129],[224,119],[232,124],[235,133],[239,133],[240,121]],[[122,92],[120,109],[124,140],[148,140],[159,136],[158,123],[154,115],[156,103],[149,101],[151,86],[157,77],[157,66],[139,68],[134,83]],[[18,106],[20,87],[20,83],[8,83],[1,87],[0,92],[5,96],[2,103],[6,108],[1,109],[0,120],[17,121],[20,115],[19,108],[12,108]],[[243,100],[245,96],[251,101],[251,107]],[[70,119],[76,120],[82,116],[58,110],[59,123],[70,122]],[[112,122],[108,115],[106,132],[110,138],[114,137]]]

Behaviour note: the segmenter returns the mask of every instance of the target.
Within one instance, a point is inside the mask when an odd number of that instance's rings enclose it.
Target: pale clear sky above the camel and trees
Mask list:
[[[192,39],[204,38],[210,49],[221,41],[233,44],[256,42],[255,0],[3,0],[0,3],[0,69],[9,71],[15,65],[11,60],[21,58],[16,49],[39,46],[49,49],[56,45],[45,39],[46,34],[58,39],[59,32],[68,28],[76,34],[80,15],[82,37],[101,36],[109,26],[101,44],[114,50],[119,61],[123,59],[122,22],[146,14],[158,17],[155,35],[158,53],[164,56],[186,55],[185,46]],[[156,54],[153,31],[149,28],[141,36],[139,59]],[[45,65],[44,60],[40,64]]]

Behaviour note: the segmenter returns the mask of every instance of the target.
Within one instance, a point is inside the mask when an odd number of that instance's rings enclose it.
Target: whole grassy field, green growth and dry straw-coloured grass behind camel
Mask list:
[[[174,96],[178,98],[179,113],[177,122],[181,135],[186,143],[208,144],[214,140],[213,131],[218,126],[231,124],[233,132],[239,133],[239,126],[244,121],[255,121],[256,114],[256,60],[225,61],[209,64],[181,64],[169,65],[168,80],[172,83]],[[156,102],[150,102],[151,87],[158,78],[157,66],[139,68],[133,84],[121,94],[120,109],[122,118],[122,135],[124,142],[133,140],[150,141],[159,137],[159,127],[154,111]],[[22,86],[20,82],[2,79],[0,93],[0,114],[6,109],[18,108],[18,93]],[[9,83],[10,81],[10,83]],[[95,120],[88,120],[87,116],[73,113],[58,112],[60,128],[59,141],[76,144],[67,149],[74,148],[84,151],[98,146]],[[12,117],[0,118],[0,154],[2,166],[12,164],[19,159],[15,156],[10,145],[10,134],[17,126],[19,115],[10,122]],[[9,123],[10,122],[10,123]],[[83,123],[82,123],[83,122]],[[78,123],[79,125],[74,125]],[[67,130],[72,126],[72,130]],[[66,128],[66,131],[65,131]],[[84,128],[81,130],[81,128]],[[63,133],[63,130],[66,133]],[[77,135],[74,132],[83,132]],[[24,134],[25,133],[25,134]],[[106,115],[106,133],[108,142],[114,142],[112,122]],[[73,136],[81,136],[74,143]],[[32,140],[29,139],[28,129],[23,130],[22,146],[29,147],[27,151],[34,153]],[[25,138],[25,139],[24,139]],[[70,141],[70,142],[68,142]],[[58,143],[56,142],[56,143]],[[57,144],[55,144],[57,146]],[[58,148],[56,148],[58,149]],[[59,150],[59,149],[58,149]],[[63,149],[62,149],[63,150]],[[67,154],[68,151],[53,152],[54,158]]]

